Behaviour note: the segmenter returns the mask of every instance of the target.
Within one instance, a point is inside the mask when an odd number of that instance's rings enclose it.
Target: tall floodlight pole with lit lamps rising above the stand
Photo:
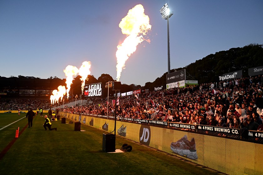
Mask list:
[[[167,44],[168,44],[168,73],[171,73],[171,68],[170,68],[170,37],[169,37],[169,18],[173,15],[173,12],[170,11],[168,7],[168,3],[164,4],[164,6],[160,9],[162,19],[167,19]]]

